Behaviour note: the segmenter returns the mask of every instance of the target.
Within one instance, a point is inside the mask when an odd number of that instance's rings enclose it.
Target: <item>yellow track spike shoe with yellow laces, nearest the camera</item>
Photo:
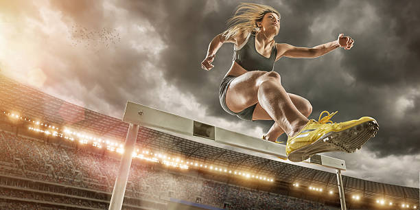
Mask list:
[[[323,113],[327,116],[321,118]],[[375,137],[379,126],[372,117],[362,117],[342,123],[333,123],[327,111],[320,114],[318,121],[310,119],[294,137],[288,137],[286,155],[292,162],[301,162],[320,152],[355,152],[356,149]],[[330,124],[327,124],[331,122]]]

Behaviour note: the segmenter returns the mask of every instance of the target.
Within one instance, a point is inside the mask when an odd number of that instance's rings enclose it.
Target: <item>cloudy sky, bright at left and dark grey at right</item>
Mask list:
[[[243,121],[220,106],[233,44],[222,45],[211,71],[200,69],[240,2],[0,0],[0,73],[119,119],[132,101],[261,137],[274,121]],[[310,119],[338,110],[334,122],[377,120],[362,150],[326,154],[346,161],[343,175],[419,187],[420,1],[250,2],[280,12],[277,43],[355,40],[319,58],[281,58],[275,71],[288,93],[310,101]]]

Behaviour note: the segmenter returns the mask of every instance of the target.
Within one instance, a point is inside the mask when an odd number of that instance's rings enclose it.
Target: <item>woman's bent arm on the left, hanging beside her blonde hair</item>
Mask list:
[[[244,33],[240,32],[235,36],[231,36],[229,39],[226,39],[226,36],[223,36],[223,33],[215,36],[211,43],[209,44],[209,49],[207,50],[207,56],[205,60],[201,62],[201,68],[209,71],[214,65],[211,64],[215,58],[216,52],[222,47],[223,43],[234,43],[237,45],[238,40],[244,36]]]

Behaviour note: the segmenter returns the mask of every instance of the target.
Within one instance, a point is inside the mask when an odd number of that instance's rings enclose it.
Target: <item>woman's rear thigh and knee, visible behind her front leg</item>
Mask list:
[[[288,96],[290,97],[290,100],[292,100],[293,105],[299,110],[300,113],[303,115],[310,115],[308,112],[312,110],[312,106],[310,102],[305,99],[304,97],[301,97],[299,95],[295,95],[293,93],[288,93]],[[308,117],[306,116],[306,117]],[[262,108],[261,104],[259,102],[257,103],[257,106],[255,106],[255,110],[253,113],[253,120],[272,120],[270,115]]]

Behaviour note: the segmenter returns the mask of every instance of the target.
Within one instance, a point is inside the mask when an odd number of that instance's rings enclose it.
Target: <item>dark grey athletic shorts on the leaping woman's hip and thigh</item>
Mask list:
[[[219,89],[220,105],[222,105],[222,108],[226,111],[226,113],[229,113],[231,115],[236,115],[240,119],[244,119],[247,121],[255,121],[253,120],[253,113],[254,113],[255,106],[257,106],[257,104],[254,104],[253,106],[245,108],[239,113],[233,112],[226,106],[226,91],[228,89],[229,84],[231,84],[232,80],[235,78],[237,77],[233,75],[227,75],[226,77],[223,78],[222,83],[220,83],[220,89]]]

